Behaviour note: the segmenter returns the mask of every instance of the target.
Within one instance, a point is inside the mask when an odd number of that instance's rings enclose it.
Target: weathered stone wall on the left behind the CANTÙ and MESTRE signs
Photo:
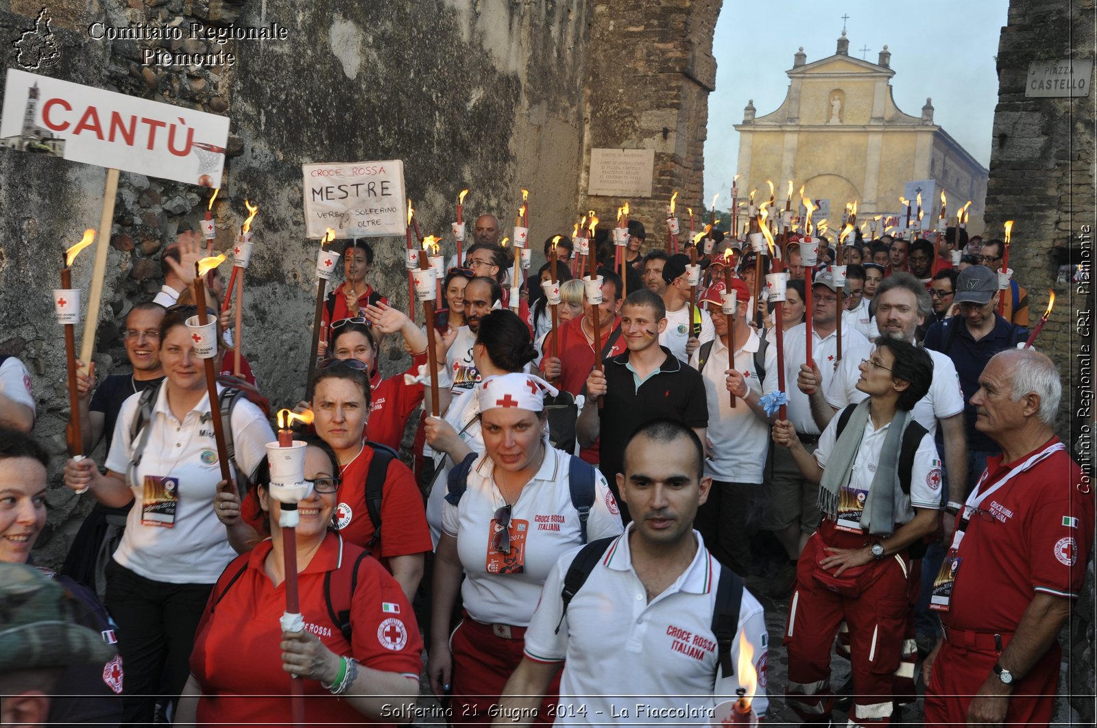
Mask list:
[[[216,247],[224,250],[233,240],[245,197],[259,204],[245,350],[263,393],[283,406],[299,399],[304,387],[315,291],[316,242],[304,238],[301,164],[403,159],[423,234],[448,229],[462,187],[471,189],[470,218],[493,212],[506,225],[524,186],[531,193],[531,239],[539,247],[569,227],[580,206],[593,7],[590,0],[55,0],[49,11],[61,58],[42,72],[231,120],[230,158],[214,205]],[[39,9],[25,0],[0,2],[0,37],[33,26]],[[236,41],[223,48],[170,42],[170,50],[224,49],[238,60],[210,69],[149,68],[140,66],[144,42],[91,39],[87,29],[97,21],[276,22],[289,39]],[[698,124],[703,129],[704,118]],[[699,155],[700,144],[695,149]],[[60,485],[68,418],[64,344],[45,292],[56,287],[61,250],[98,224],[104,170],[4,151],[0,175],[0,353],[29,365],[38,402],[34,434],[56,456],[50,515],[37,553],[39,561],[55,565],[90,498]],[[101,375],[124,371],[123,317],[159,289],[162,246],[179,229],[197,227],[207,194],[122,173],[98,329]],[[403,238],[373,244],[371,281],[403,308]],[[84,291],[92,258],[86,252],[73,271],[73,283]],[[399,342],[386,348],[382,366],[392,374],[406,360]],[[101,451],[93,455],[102,462]]]

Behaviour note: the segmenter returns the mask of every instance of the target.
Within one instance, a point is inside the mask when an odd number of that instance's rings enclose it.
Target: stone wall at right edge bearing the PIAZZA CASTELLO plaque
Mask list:
[[[1092,348],[1088,361],[1084,346],[1093,345],[1093,293],[1083,284],[1056,282],[1058,266],[1070,261],[1082,264],[1092,275],[1094,224],[1094,103],[1090,91],[1077,99],[1027,99],[1026,78],[1033,61],[1067,58],[1094,61],[1093,0],[1013,0],[1008,24],[1002,29],[998,46],[998,105],[994,116],[994,145],[986,196],[987,232],[998,234],[1013,219],[1009,265],[1030,292],[1033,322],[1048,303],[1049,288],[1055,292],[1052,316],[1040,335],[1038,348],[1048,353],[1063,373],[1063,403],[1056,430],[1068,443],[1092,443],[1079,439],[1084,425],[1093,426],[1092,412],[1084,407],[1084,393],[1093,391]],[[1085,366],[1085,371],[1083,371]],[[1092,453],[1090,450],[1088,451]],[[1092,458],[1082,457],[1093,475]],[[1081,723],[1093,724],[1094,704],[1094,562],[1087,568],[1084,596],[1078,601],[1071,628],[1062,641],[1068,660],[1068,684],[1060,692],[1071,694],[1070,703]],[[1087,697],[1087,695],[1089,697]],[[1059,717],[1067,717],[1065,708]]]

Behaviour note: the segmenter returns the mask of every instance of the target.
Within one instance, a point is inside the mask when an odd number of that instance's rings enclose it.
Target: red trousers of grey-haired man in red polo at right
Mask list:
[[[1051,649],[1017,682],[1009,696],[1007,726],[1047,726],[1051,721],[1059,660],[1059,642],[1052,642]],[[997,661],[995,651],[964,649],[945,641],[926,687],[926,728],[966,725],[971,698]]]

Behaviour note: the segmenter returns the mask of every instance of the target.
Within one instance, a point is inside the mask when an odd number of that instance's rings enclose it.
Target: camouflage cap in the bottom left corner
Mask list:
[[[76,623],[78,602],[33,567],[0,564],[0,672],[102,663],[114,648]]]

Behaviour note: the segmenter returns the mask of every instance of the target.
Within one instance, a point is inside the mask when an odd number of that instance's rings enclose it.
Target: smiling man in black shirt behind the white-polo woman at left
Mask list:
[[[114,424],[122,402],[163,380],[163,367],[160,365],[160,322],[166,310],[155,303],[137,304],[129,309],[122,337],[126,356],[133,366],[131,374],[110,375],[90,397],[90,379],[82,374],[78,375],[80,432],[83,436],[83,452],[89,455],[104,439],[106,450],[111,450]],[[122,541],[128,513],[129,505],[110,508],[95,501],[80,525],[61,567],[61,573],[93,590],[101,600],[106,590],[103,569],[114,554],[114,547]]]

